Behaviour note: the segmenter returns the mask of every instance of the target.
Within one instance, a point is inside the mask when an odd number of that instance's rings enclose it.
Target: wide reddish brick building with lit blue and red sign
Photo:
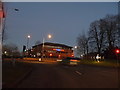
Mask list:
[[[35,45],[32,49],[25,52],[28,57],[44,57],[44,58],[65,58],[74,57],[73,47],[58,43],[45,42]]]

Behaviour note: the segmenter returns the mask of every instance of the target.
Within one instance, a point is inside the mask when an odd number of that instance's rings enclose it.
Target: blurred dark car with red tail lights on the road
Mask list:
[[[79,62],[80,62],[79,58],[67,57],[67,58],[62,59],[60,61],[60,64],[63,64],[63,65],[78,65]]]

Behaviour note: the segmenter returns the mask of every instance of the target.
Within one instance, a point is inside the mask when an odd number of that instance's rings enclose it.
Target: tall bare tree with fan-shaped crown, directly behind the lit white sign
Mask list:
[[[104,20],[96,20],[90,24],[89,28],[89,44],[99,54],[101,54],[105,37],[104,24]]]

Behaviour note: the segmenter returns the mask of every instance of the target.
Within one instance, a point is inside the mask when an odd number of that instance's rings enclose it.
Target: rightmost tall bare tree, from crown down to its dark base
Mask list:
[[[120,48],[120,16],[119,15],[107,15],[104,18],[106,25],[105,28],[105,42],[106,49],[104,55],[106,58],[115,59],[115,48]]]

